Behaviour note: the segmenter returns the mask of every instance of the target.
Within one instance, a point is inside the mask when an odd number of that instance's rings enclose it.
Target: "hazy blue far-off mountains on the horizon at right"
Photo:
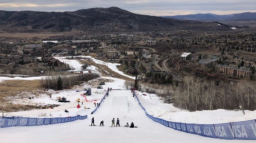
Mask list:
[[[214,21],[214,20],[256,20],[256,12],[245,12],[239,14],[217,15],[212,13],[198,13],[188,15],[175,15],[175,16],[162,16],[165,18],[176,18],[185,20],[197,20],[197,21]]]

